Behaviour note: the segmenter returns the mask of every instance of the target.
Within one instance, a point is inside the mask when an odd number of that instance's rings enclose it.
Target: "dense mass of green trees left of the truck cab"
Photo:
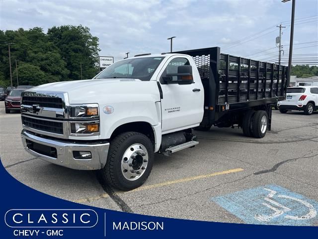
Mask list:
[[[0,30],[0,84],[3,86],[10,85],[8,43],[13,86],[16,86],[15,60],[19,84],[79,80],[80,62],[83,78],[92,78],[98,70],[98,38],[87,27],[52,27],[47,34],[40,27]]]

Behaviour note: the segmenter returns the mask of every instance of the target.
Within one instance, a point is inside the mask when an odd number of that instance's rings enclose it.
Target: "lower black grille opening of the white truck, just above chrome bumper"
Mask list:
[[[22,116],[22,123],[30,128],[35,128],[38,130],[63,134],[63,122],[48,121],[42,119],[33,119],[29,117]]]

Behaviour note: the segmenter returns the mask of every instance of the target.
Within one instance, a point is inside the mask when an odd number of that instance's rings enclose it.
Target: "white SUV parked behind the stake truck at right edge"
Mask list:
[[[311,115],[318,110],[318,86],[297,86],[287,88],[286,100],[277,103],[280,113],[288,110],[304,111]]]

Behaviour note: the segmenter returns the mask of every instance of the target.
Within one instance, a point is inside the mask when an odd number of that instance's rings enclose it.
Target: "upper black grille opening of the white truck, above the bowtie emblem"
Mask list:
[[[61,98],[23,96],[22,105],[39,105],[40,107],[63,109]]]

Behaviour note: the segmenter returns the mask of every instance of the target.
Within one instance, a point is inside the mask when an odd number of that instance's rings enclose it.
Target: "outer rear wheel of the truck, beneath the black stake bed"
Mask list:
[[[252,134],[255,138],[262,138],[267,132],[268,116],[266,111],[256,111],[252,118]]]

